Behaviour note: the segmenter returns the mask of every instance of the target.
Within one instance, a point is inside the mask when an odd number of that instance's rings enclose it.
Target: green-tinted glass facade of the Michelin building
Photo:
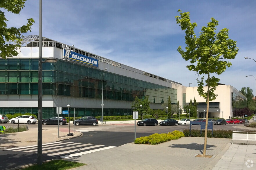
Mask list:
[[[58,60],[55,63],[46,62],[42,64],[42,70],[43,95],[102,98],[102,70],[64,60]],[[161,104],[167,102],[170,96],[172,104],[176,104],[177,90],[174,88],[110,72],[104,73],[103,83],[104,99],[134,101],[135,97],[144,99],[145,96],[149,96],[151,103]],[[38,95],[38,59],[1,60],[0,95]],[[79,116],[101,115],[101,108],[76,109],[79,110]],[[37,113],[37,108],[1,108],[0,112],[13,114],[17,113],[17,110]],[[47,110],[45,112],[49,115],[56,114],[56,108],[43,108],[43,113],[44,110]],[[127,114],[132,114],[130,108],[104,108],[106,116]]]

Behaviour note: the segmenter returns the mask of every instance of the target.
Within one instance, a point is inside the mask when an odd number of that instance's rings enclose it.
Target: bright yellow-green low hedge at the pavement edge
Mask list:
[[[143,136],[140,138],[136,138],[134,143],[135,144],[150,144],[150,145],[156,145],[158,143],[163,143],[166,141],[170,141],[173,139],[179,139],[181,137],[184,137],[184,134],[178,130],[174,130],[173,132],[169,132],[168,134],[162,133],[162,134],[152,134],[149,136]]]

